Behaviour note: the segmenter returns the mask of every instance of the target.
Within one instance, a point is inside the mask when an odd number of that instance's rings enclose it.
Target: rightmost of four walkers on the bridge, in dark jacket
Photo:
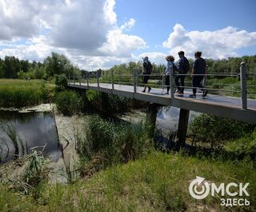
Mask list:
[[[197,87],[202,90],[202,97],[206,97],[207,90],[202,86],[202,80],[204,78],[203,74],[206,74],[206,61],[204,58],[201,58],[202,52],[197,51],[194,54],[194,66],[192,69],[192,86],[193,86],[193,94],[190,95],[190,98],[195,98],[197,94]],[[202,74],[202,75],[201,75]]]

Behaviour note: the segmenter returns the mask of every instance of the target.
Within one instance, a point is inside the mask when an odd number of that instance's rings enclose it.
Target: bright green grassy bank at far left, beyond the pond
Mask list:
[[[34,106],[48,102],[54,85],[42,80],[0,79],[0,106]]]

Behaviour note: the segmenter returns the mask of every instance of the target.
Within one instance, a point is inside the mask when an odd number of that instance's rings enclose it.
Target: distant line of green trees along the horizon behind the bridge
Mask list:
[[[193,60],[190,61],[190,66]],[[238,73],[241,62],[246,62],[249,73],[256,74],[256,55],[243,56],[241,58],[226,58],[221,60],[206,59],[208,73]],[[142,70],[142,61],[128,62],[115,65],[111,68],[115,73],[132,74],[133,70]],[[163,73],[166,69],[165,64],[155,64],[153,62],[153,72]],[[100,72],[102,70],[99,70]],[[63,54],[52,52],[51,56],[44,59],[43,62],[29,62],[28,60],[19,60],[14,56],[0,58],[0,78],[38,78],[48,79],[56,74],[78,75],[86,74],[88,71],[80,70],[78,66],[71,64],[70,60]],[[93,74],[95,72],[90,72]],[[96,74],[94,74],[96,75]]]

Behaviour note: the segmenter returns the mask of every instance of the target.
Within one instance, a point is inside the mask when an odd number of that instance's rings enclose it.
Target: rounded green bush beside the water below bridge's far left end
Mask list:
[[[82,108],[82,98],[73,91],[62,91],[56,94],[55,102],[60,111],[64,115],[77,114]]]

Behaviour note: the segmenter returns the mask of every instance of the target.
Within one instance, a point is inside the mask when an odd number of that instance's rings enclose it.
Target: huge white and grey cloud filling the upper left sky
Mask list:
[[[125,33],[134,18],[117,26],[115,0],[1,0],[0,6],[0,57],[42,61],[54,51],[82,68],[110,67],[146,46]]]

